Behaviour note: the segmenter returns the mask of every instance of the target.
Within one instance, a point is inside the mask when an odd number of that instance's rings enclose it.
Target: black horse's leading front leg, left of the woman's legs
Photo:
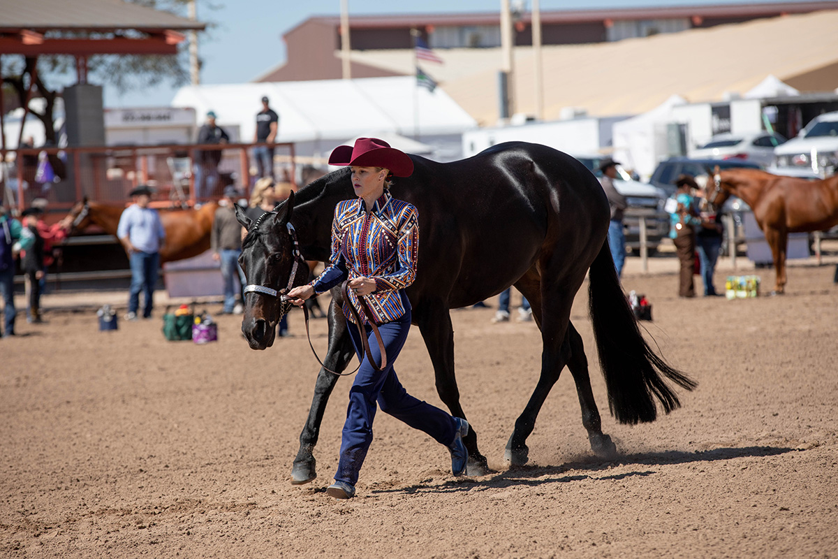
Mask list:
[[[355,355],[349,330],[346,328],[344,312],[340,303],[333,298],[328,305],[328,352],[323,364],[331,370],[343,372],[346,365]],[[300,433],[300,449],[291,470],[291,483],[294,485],[308,484],[317,477],[315,469],[317,461],[314,459],[314,446],[320,436],[320,423],[323,422],[323,412],[326,411],[328,396],[332,394],[338,375],[321,368],[314,385],[312,406],[308,410],[308,419]]]

